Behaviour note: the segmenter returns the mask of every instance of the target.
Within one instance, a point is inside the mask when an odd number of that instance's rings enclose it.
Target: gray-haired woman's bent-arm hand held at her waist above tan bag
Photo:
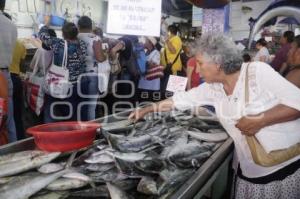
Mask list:
[[[263,115],[246,116],[238,120],[235,125],[243,135],[254,136],[260,129],[265,127]]]

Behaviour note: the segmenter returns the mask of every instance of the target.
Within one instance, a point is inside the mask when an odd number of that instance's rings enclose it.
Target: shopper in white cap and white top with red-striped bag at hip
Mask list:
[[[160,64],[160,52],[156,49],[157,40],[155,37],[146,37],[145,50],[147,56],[147,71],[158,67]],[[159,71],[158,71],[159,72]],[[156,98],[156,94],[160,95],[160,78],[154,78],[147,80],[146,76],[141,76],[139,83],[139,102],[148,101],[152,102],[160,99],[160,96]]]

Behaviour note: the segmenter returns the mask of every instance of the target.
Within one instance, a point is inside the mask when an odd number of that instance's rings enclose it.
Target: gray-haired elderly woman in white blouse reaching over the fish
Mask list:
[[[242,54],[234,42],[223,35],[203,36],[197,41],[196,48],[196,60],[206,83],[138,109],[129,118],[138,120],[149,112],[213,105],[235,144],[239,163],[235,198],[299,198],[300,156],[272,167],[260,166],[254,162],[245,136],[273,132],[299,135],[300,90],[265,63],[242,64]],[[250,96],[247,109],[246,74]],[[260,114],[260,117],[246,117],[246,112],[248,115]]]

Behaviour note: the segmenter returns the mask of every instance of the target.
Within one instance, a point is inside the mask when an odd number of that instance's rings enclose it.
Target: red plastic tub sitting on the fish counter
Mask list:
[[[27,129],[37,147],[44,151],[73,151],[93,143],[100,124],[91,122],[57,122]]]

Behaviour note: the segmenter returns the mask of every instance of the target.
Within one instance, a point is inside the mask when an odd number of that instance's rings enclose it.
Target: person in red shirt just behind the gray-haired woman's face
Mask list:
[[[187,90],[197,87],[202,83],[195,57],[190,58],[187,62],[187,78]]]

